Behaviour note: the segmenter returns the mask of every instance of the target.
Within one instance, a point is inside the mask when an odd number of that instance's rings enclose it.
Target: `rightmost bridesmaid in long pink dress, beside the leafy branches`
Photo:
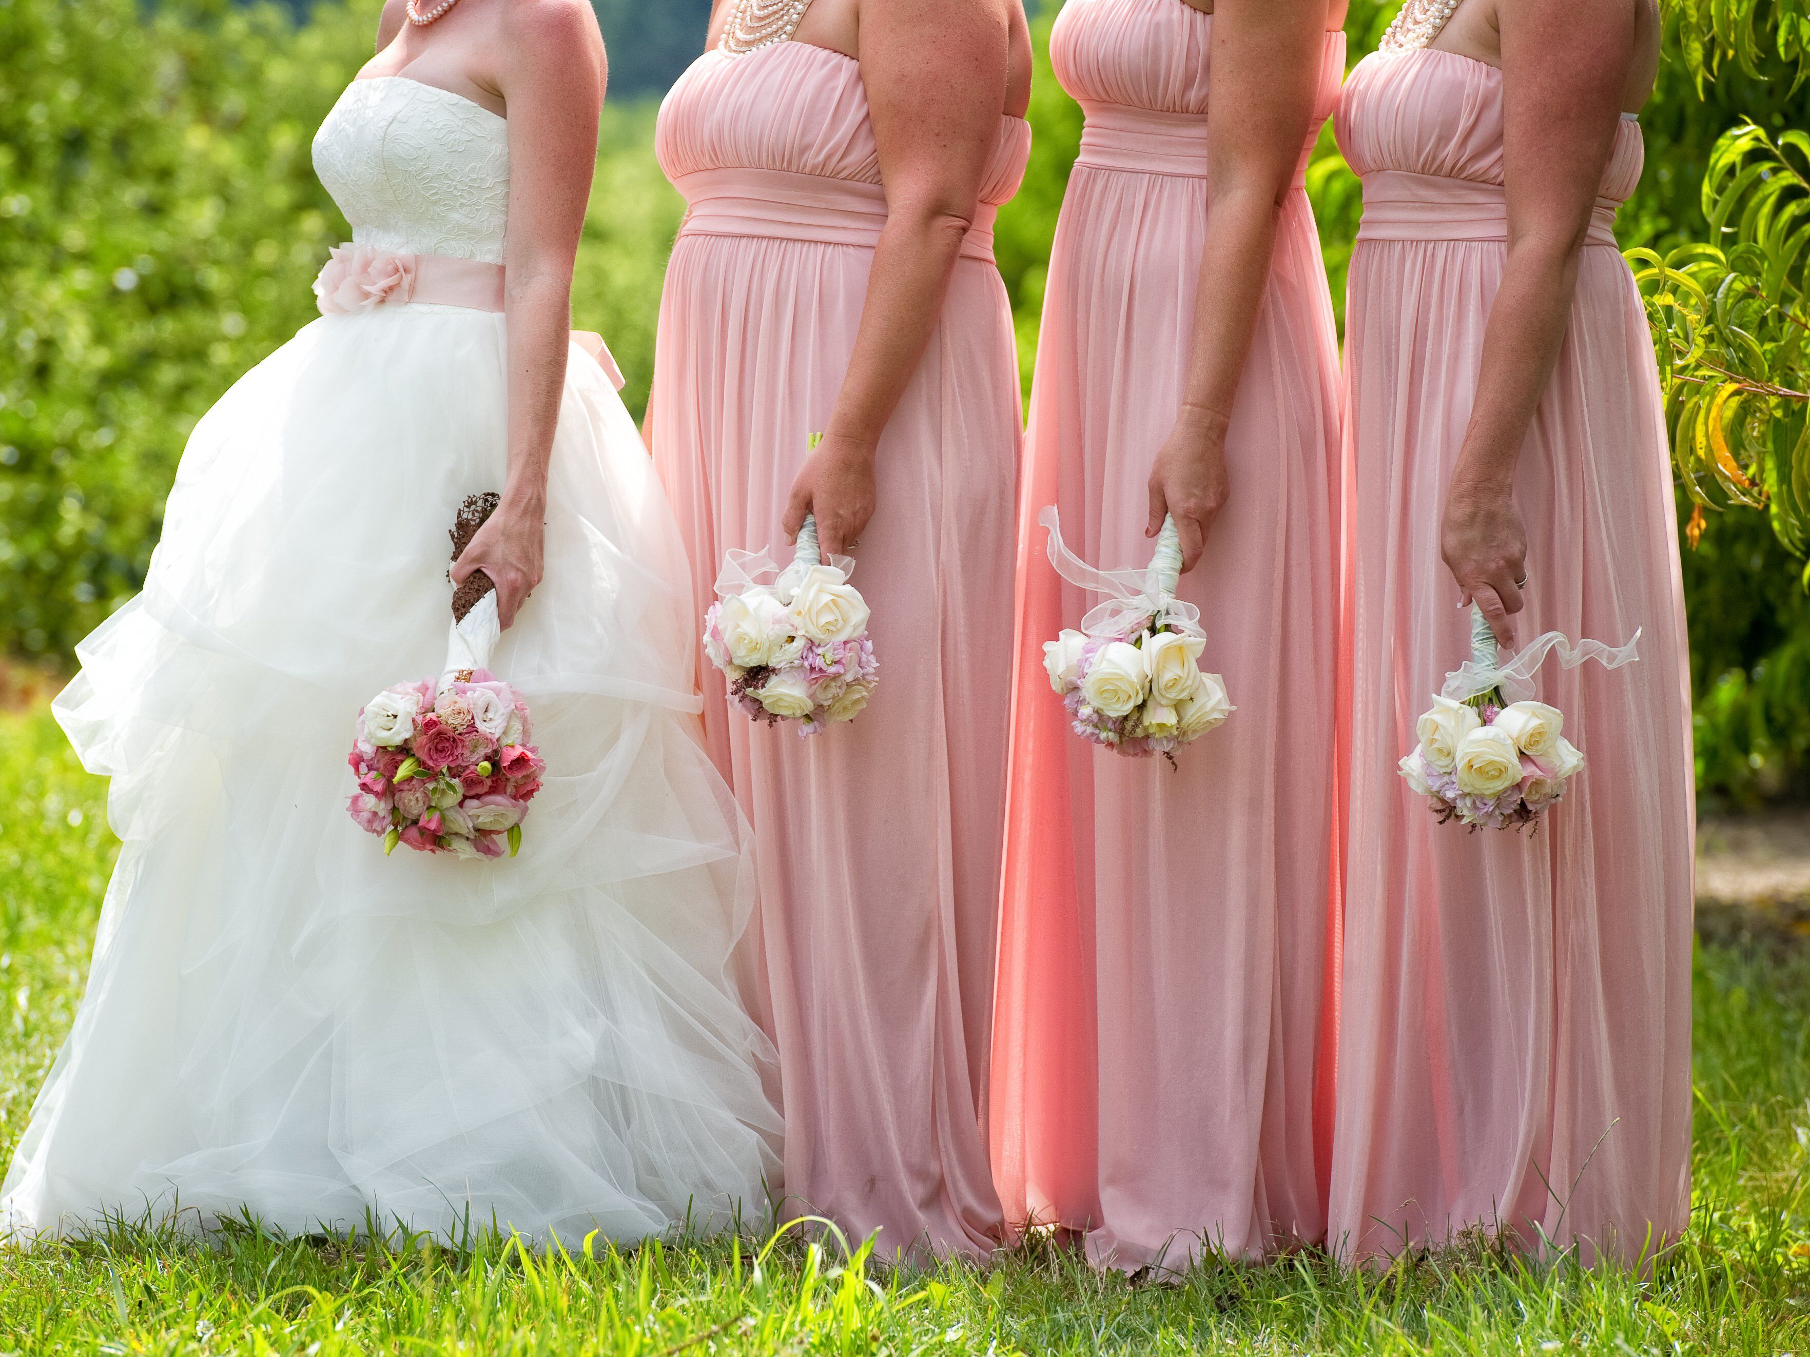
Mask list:
[[[1347,1257],[1482,1223],[1633,1263],[1689,1212],[1685,615],[1653,349],[1613,232],[1658,47],[1653,0],[1408,0],[1345,89],[1365,192]],[[1468,655],[1472,599],[1504,644],[1642,630],[1634,666],[1537,675],[1589,756],[1538,834],[1437,825],[1396,774]]]

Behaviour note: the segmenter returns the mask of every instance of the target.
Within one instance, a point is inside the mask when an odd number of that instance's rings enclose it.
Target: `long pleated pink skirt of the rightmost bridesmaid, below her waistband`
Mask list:
[[[1350,867],[1330,1241],[1439,1245],[1470,1225],[1633,1261],[1691,1209],[1691,689],[1676,512],[1645,317],[1586,246],[1515,472],[1517,635],[1640,662],[1537,675],[1587,762],[1537,834],[1439,825],[1397,776],[1468,657],[1439,555],[1506,250],[1365,241],[1347,326]]]

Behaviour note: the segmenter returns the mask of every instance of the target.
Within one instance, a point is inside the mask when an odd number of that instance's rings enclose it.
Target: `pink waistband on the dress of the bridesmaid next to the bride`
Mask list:
[[[693,170],[673,185],[690,210],[679,237],[753,235],[767,241],[816,241],[872,250],[887,224],[887,194],[880,185],[831,179],[789,170]],[[981,204],[961,242],[963,259],[994,262],[994,219],[999,210]]]

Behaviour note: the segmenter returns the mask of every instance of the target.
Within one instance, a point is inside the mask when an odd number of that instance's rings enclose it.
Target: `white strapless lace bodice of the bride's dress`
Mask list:
[[[315,132],[315,174],[358,244],[503,262],[509,123],[452,90],[355,80]]]

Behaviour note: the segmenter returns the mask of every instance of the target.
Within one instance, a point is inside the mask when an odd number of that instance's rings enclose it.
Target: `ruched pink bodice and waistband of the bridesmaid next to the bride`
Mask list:
[[[653,148],[691,206],[690,233],[872,244],[885,224],[862,67],[827,47],[711,49],[661,103]],[[1028,157],[1030,123],[1001,118],[970,257],[990,257],[994,210]]]

